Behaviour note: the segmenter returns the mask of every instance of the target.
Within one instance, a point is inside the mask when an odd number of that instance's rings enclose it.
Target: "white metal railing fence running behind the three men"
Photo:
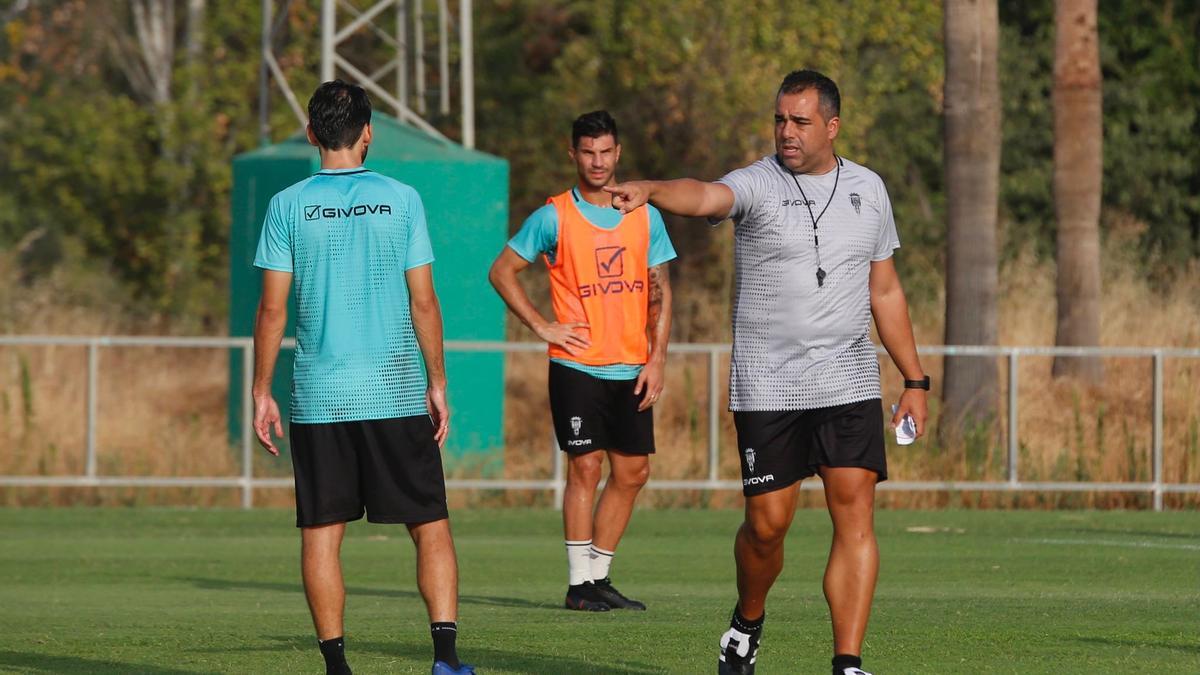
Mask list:
[[[88,351],[86,388],[86,461],[82,476],[0,476],[0,486],[107,486],[107,488],[238,488],[241,490],[244,508],[253,506],[256,489],[290,488],[289,478],[254,476],[253,408],[248,395],[253,377],[253,340],[250,338],[133,338],[133,336],[42,336],[0,335],[0,346],[78,346]],[[293,346],[292,340],[284,341]],[[101,476],[96,470],[96,382],[101,350],[104,347],[172,347],[172,348],[223,348],[239,350],[242,359],[241,406],[241,473],[239,476],[212,477],[140,477]],[[446,341],[448,352],[544,352],[541,342],[504,341]],[[648,489],[656,490],[740,490],[742,482],[719,477],[719,419],[720,411],[720,360],[730,352],[724,344],[678,344],[671,352],[679,354],[706,354],[708,357],[708,466],[707,476],[691,480],[650,480]],[[1166,347],[983,347],[983,346],[929,346],[920,347],[922,354],[949,357],[1003,357],[1008,364],[1007,410],[1007,479],[1006,480],[887,480],[880,490],[889,491],[1006,491],[1006,492],[1144,492],[1152,495],[1154,510],[1163,509],[1163,496],[1171,492],[1200,494],[1200,483],[1165,483],[1163,479],[1163,363],[1166,359],[1200,359],[1200,350]],[[1026,482],[1020,479],[1020,359],[1025,357],[1120,357],[1148,358],[1153,364],[1152,376],[1152,429],[1151,480],[1148,482]],[[1200,393],[1198,393],[1200,400]],[[553,441],[550,441],[551,443]],[[557,448],[556,448],[557,449]],[[554,503],[562,503],[565,485],[562,453],[553,453],[553,476],[547,479],[448,479],[450,489],[490,490],[553,490]],[[804,489],[820,489],[818,482],[808,482]]]

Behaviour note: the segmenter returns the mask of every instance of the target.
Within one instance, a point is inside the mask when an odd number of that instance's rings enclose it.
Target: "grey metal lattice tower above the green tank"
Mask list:
[[[280,0],[263,0],[263,41],[259,70],[259,137],[270,142],[270,83],[274,80],[283,94],[288,107],[296,115],[300,125],[308,123],[299,100],[288,85],[287,74],[280,67],[275,56],[276,36],[283,26],[283,20],[294,0],[282,0],[282,7],[276,13]],[[304,1],[304,0],[301,0]],[[458,82],[460,106],[462,108],[462,144],[475,147],[475,68],[474,37],[472,35],[472,0],[458,0],[458,16],[450,14],[449,0],[320,0],[320,80],[329,82],[335,77],[354,82],[371,95],[392,109],[401,121],[421,131],[445,139],[422,115],[427,114],[428,90],[426,71],[431,70],[426,58],[426,14],[425,6],[437,4],[437,82],[438,112],[450,114],[450,30],[452,24],[458,29]],[[360,7],[359,5],[370,5]],[[389,26],[383,20],[394,22]],[[390,30],[389,30],[390,29]],[[383,42],[392,54],[377,64],[354,64],[338,52],[352,36],[370,31]],[[391,88],[385,79],[390,78]],[[415,104],[415,110],[412,103]]]

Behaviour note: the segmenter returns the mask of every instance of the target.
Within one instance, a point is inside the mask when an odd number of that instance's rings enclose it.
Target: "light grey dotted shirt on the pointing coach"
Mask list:
[[[840,174],[793,178],[768,155],[718,181],[733,190],[732,411],[881,398],[871,262],[889,258],[900,239],[883,180],[850,160],[839,163]],[[820,287],[812,216],[827,273]]]

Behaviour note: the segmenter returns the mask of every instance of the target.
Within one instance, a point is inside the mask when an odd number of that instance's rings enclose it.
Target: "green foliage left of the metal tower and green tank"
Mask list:
[[[6,25],[0,243],[41,232],[26,276],[86,263],[122,280],[145,313],[221,317],[229,161],[257,142],[259,25],[257,5],[208,7],[200,60],[179,49],[167,102],[139,96],[114,56],[127,7],[106,19],[95,4],[34,5]],[[290,113],[275,112],[286,129]]]

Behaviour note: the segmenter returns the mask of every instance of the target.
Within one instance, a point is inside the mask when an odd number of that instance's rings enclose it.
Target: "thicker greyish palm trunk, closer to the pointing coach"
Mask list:
[[[946,344],[996,344],[1000,84],[996,0],[946,0]],[[947,357],[943,440],[997,412],[994,357]]]

